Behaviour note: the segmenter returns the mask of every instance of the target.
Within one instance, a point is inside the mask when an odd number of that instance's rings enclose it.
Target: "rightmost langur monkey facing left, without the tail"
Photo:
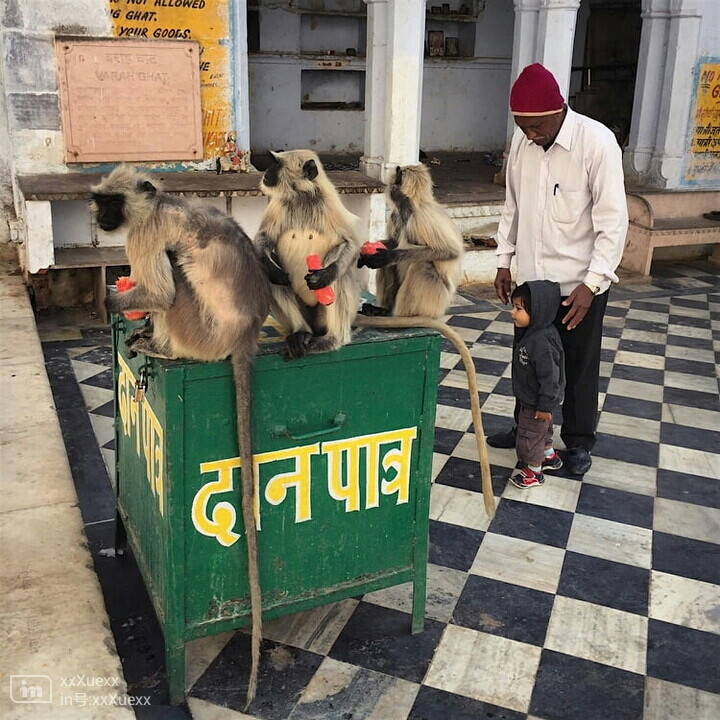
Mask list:
[[[435,200],[424,165],[398,167],[389,190],[394,208],[388,251],[363,256],[361,264],[378,269],[377,299],[386,313],[440,317],[461,276],[460,230]]]

